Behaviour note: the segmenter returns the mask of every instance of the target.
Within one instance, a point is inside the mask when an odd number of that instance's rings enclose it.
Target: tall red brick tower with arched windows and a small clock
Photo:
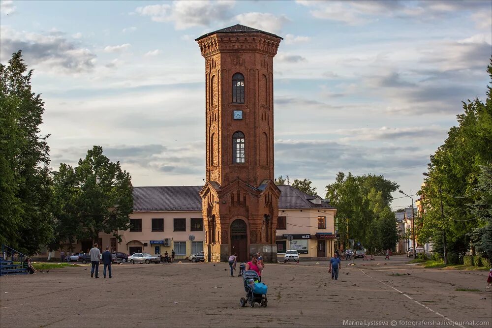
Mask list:
[[[281,37],[243,25],[196,39],[205,58],[205,258],[277,261],[273,58]]]

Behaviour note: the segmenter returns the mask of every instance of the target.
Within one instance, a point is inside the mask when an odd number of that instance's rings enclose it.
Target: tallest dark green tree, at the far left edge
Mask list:
[[[28,254],[52,239],[49,148],[44,103],[31,90],[22,52],[0,64],[0,241]]]

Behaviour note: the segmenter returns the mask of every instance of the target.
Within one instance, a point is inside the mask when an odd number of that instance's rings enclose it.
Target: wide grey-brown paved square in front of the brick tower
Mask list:
[[[89,266],[7,276],[0,278],[0,326],[367,327],[376,320],[379,327],[391,321],[396,327],[412,326],[405,321],[491,327],[487,273],[416,268],[406,260],[356,260],[352,267],[342,261],[338,281],[327,263],[267,264],[266,308],[239,306],[243,280],[238,271],[230,276],[227,263],[125,264],[113,267],[112,279],[102,272],[91,279]]]

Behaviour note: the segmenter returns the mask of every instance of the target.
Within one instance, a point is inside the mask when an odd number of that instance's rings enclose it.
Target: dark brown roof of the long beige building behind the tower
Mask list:
[[[334,209],[326,200],[313,204],[302,191],[292,186],[277,186],[281,194],[279,209]],[[203,186],[133,187],[133,211],[201,211]]]

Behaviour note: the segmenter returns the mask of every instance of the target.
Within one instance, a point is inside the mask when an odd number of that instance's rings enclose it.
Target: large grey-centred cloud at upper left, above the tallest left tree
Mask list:
[[[0,26],[0,60],[3,62],[18,50],[29,64],[39,64],[38,68],[56,68],[63,73],[91,70],[96,55],[91,50],[70,42],[60,31],[48,34],[17,31]]]

